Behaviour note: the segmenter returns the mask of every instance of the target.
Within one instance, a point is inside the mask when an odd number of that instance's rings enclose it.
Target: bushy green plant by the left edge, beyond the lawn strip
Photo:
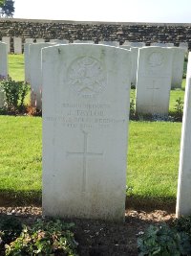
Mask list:
[[[24,100],[29,91],[29,85],[24,81],[13,81],[11,77],[0,82],[0,91],[5,95],[5,108],[8,112],[24,110]]]

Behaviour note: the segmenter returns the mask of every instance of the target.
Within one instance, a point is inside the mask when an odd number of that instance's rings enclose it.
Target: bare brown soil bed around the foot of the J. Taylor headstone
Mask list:
[[[12,215],[24,223],[42,218],[41,207],[0,207],[0,218]],[[124,223],[92,220],[73,221],[78,253],[82,256],[136,256],[138,233],[150,224],[175,219],[172,211],[127,209]],[[2,255],[2,254],[0,254]]]

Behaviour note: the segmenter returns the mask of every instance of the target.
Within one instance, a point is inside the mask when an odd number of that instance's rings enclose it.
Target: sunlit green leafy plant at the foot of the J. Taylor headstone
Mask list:
[[[6,244],[6,255],[77,255],[72,226],[74,223],[60,220],[38,220],[32,227],[23,225],[20,236]]]

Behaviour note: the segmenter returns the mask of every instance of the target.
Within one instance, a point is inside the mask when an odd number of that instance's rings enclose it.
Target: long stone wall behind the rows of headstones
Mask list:
[[[2,36],[23,38],[79,40],[125,40],[151,42],[187,42],[191,49],[191,24],[174,23],[115,23],[115,22],[76,22],[53,20],[0,19],[0,39]]]

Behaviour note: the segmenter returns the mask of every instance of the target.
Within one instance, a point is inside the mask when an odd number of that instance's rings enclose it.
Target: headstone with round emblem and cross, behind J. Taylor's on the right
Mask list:
[[[138,50],[136,111],[142,114],[168,114],[173,51],[143,47]]]

